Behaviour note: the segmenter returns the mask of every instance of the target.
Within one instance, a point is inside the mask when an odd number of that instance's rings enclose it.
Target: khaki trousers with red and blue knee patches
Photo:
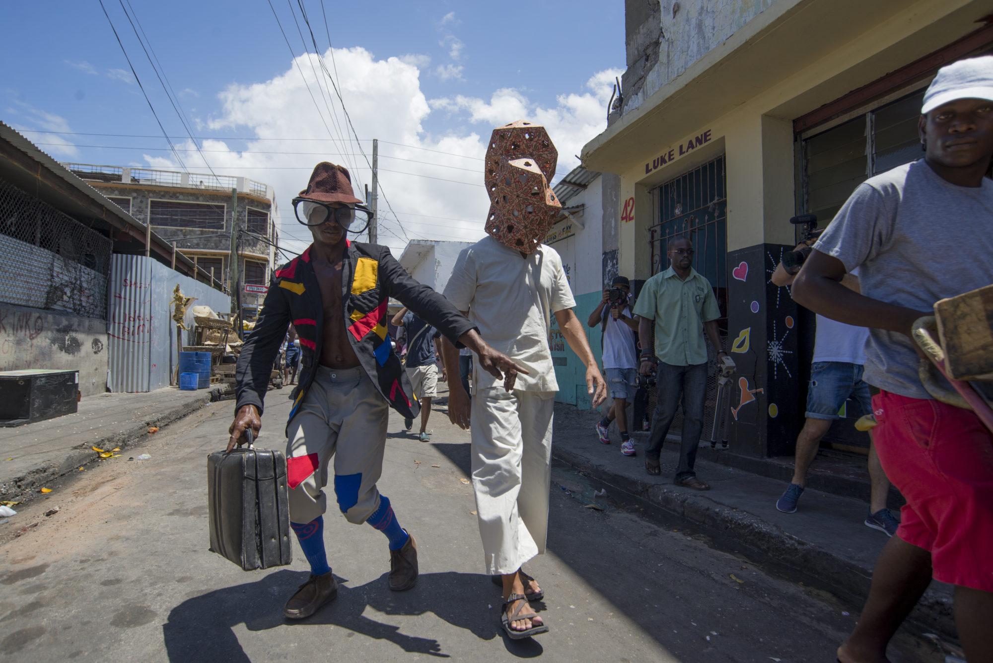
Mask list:
[[[335,495],[349,522],[379,508],[389,406],[359,366],[318,366],[297,414],[286,428],[290,521],[309,523],[327,510],[328,464],[335,459]]]

